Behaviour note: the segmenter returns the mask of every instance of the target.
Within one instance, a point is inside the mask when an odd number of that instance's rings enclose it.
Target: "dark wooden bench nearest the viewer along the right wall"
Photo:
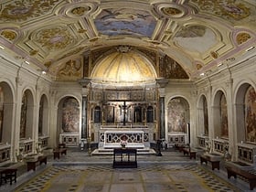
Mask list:
[[[256,187],[256,175],[251,174],[249,171],[240,169],[236,166],[226,166],[227,172],[228,172],[228,178],[231,176],[234,176],[234,178],[237,178],[237,176],[242,176],[246,178],[249,181],[250,190],[253,190],[254,187]]]

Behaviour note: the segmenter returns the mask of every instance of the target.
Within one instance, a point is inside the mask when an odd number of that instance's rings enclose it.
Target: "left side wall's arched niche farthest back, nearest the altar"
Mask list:
[[[39,102],[38,136],[48,135],[48,98],[43,94]]]

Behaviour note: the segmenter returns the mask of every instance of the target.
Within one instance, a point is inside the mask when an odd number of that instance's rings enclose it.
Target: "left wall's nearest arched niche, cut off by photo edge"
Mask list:
[[[0,82],[0,142],[11,144],[14,96],[6,82]]]

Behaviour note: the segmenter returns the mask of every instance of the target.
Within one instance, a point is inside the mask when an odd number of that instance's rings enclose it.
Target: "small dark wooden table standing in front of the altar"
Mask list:
[[[137,168],[137,149],[113,149],[113,168]]]

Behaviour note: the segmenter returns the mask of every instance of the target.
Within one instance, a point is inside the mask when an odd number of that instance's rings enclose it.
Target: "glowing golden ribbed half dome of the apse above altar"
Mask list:
[[[119,49],[101,59],[91,72],[94,83],[133,86],[154,83],[156,72],[152,63],[143,54]]]

